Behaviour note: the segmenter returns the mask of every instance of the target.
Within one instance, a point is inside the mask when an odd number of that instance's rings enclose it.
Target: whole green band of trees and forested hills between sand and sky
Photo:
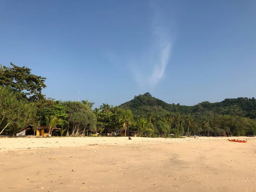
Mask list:
[[[95,136],[136,133],[138,137],[256,134],[254,98],[182,106],[145,93],[120,106],[103,103],[93,109],[94,103],[89,100],[46,99],[41,92],[45,80],[24,66],[0,66],[0,134],[15,135],[29,124],[34,133],[40,126],[47,126],[49,135],[52,128],[61,128],[61,136],[86,136],[88,132]]]

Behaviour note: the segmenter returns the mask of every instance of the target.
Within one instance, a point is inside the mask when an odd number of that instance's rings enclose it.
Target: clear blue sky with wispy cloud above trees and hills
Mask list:
[[[0,0],[0,63],[96,107],[256,97],[255,18],[254,0]]]

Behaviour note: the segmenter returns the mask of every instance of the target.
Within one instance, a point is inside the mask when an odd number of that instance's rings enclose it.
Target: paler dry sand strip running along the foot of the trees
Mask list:
[[[17,151],[32,148],[84,147],[90,145],[126,145],[144,143],[183,143],[197,141],[223,141],[227,139],[256,140],[256,137],[193,137],[149,138],[149,137],[0,137],[1,151]]]

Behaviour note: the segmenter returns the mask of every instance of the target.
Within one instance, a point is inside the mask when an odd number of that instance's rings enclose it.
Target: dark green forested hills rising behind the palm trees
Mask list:
[[[152,97],[150,93],[134,96],[129,102],[120,105],[123,109],[130,109],[134,115],[147,115],[157,113],[165,116],[167,113],[193,114],[196,117],[212,116],[214,114],[236,115],[256,118],[256,99],[239,97],[237,99],[224,99],[221,102],[201,102],[194,106],[168,104]]]

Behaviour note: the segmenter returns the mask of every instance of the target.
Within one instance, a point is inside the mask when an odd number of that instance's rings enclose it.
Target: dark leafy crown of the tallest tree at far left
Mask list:
[[[42,89],[46,87],[46,78],[31,74],[31,69],[23,66],[18,67],[10,63],[12,67],[1,67],[0,85],[10,87],[12,90],[21,93],[22,98],[30,101],[44,99]]]

